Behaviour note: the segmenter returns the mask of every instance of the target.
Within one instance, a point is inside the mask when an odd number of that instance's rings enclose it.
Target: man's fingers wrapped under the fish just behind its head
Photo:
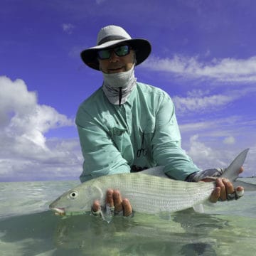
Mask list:
[[[123,198],[121,193],[117,190],[108,189],[106,193],[105,203],[114,208],[114,215],[130,216],[132,215],[132,206],[127,198]],[[100,202],[95,201],[92,205],[92,211],[97,212],[100,210]]]

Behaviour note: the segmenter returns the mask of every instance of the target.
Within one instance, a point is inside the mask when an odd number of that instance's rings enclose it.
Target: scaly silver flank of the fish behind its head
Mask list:
[[[174,212],[194,206],[205,201],[214,188],[213,183],[188,183],[146,174],[102,176],[92,183],[104,195],[108,188],[118,189],[141,213]]]

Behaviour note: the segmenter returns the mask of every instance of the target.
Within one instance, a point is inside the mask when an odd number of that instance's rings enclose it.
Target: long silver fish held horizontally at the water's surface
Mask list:
[[[235,181],[248,149],[242,151],[230,164],[223,177]],[[165,178],[161,167],[156,171],[133,174],[114,174],[81,183],[63,193],[50,204],[50,209],[60,215],[88,212],[97,200],[105,205],[107,189],[117,189],[128,198],[132,208],[139,213],[173,213],[200,205],[208,200],[215,182],[186,182]],[[149,175],[151,174],[151,175]],[[159,176],[152,176],[157,175]]]

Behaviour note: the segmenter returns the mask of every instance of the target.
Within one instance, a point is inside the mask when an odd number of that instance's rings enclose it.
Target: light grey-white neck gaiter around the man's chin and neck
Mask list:
[[[104,82],[102,90],[107,99],[114,105],[122,105],[136,85],[137,79],[134,76],[134,65],[128,71],[120,73],[103,73]]]

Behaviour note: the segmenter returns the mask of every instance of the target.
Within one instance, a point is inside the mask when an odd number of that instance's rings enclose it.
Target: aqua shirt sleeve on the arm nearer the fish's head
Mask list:
[[[98,176],[130,172],[127,161],[114,146],[105,128],[97,124],[82,107],[78,110],[76,124],[84,157],[81,182]]]

